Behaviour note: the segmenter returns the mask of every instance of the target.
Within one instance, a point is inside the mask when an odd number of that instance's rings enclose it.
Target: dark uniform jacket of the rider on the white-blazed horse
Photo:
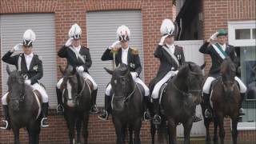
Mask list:
[[[68,65],[73,67],[83,66],[84,71],[88,72],[92,63],[90,58],[90,50],[87,47],[81,46],[79,54],[85,59],[85,63],[82,62],[81,58],[77,58],[74,51],[70,50],[70,48],[67,46],[62,46],[62,49],[58,51],[58,56],[61,58],[66,58]]]

